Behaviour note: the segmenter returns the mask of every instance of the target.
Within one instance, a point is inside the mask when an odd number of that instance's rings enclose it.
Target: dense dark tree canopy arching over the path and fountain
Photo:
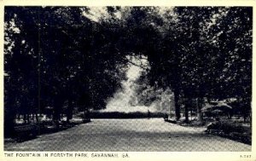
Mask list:
[[[235,97],[245,116],[251,112],[252,8],[105,11],[93,20],[87,7],[5,8],[5,127],[16,114],[29,122],[49,107],[54,120],[72,118],[75,106],[105,108],[132,63],[127,55],[148,60],[138,81],[172,89],[177,119],[184,99],[198,102],[198,118],[204,98]]]

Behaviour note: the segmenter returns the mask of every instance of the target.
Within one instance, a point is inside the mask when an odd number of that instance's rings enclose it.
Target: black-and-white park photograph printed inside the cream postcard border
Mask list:
[[[3,16],[5,152],[252,152],[252,6]]]

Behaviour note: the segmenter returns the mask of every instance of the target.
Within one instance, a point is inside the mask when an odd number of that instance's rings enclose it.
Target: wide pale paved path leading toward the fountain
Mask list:
[[[151,119],[93,119],[88,124],[22,143],[7,143],[6,151],[251,151],[251,146],[204,128],[182,127]]]

